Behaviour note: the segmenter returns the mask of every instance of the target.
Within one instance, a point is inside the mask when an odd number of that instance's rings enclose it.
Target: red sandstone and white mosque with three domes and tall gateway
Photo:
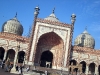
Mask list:
[[[30,37],[24,37],[23,26],[17,15],[4,22],[0,32],[0,60],[64,71],[82,71],[100,75],[100,51],[95,50],[95,39],[85,29],[72,45],[76,15],[71,24],[62,23],[53,12],[46,18],[38,18],[35,8]]]

